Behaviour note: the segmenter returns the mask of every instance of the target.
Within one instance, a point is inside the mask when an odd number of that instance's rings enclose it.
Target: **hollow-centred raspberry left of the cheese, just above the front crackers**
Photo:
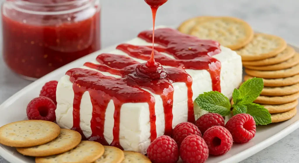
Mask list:
[[[56,105],[48,97],[36,97],[27,105],[28,119],[55,121]]]

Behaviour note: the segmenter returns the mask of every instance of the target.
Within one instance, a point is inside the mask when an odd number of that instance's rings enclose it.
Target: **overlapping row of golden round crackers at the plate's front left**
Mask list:
[[[36,163],[150,163],[141,153],[122,151],[98,142],[81,141],[77,131],[60,129],[49,121],[26,120],[0,127],[0,143],[16,147]]]

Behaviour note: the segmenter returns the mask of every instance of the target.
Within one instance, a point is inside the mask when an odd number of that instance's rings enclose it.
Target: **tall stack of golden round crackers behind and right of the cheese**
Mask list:
[[[245,67],[244,80],[263,78],[264,89],[254,102],[271,113],[272,122],[295,116],[299,98],[299,54],[278,36],[254,33],[248,23],[233,17],[200,16],[184,21],[182,33],[219,41],[235,50]]]

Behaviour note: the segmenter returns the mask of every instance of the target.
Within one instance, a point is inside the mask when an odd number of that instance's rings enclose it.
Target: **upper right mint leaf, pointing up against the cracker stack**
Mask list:
[[[260,96],[263,87],[264,82],[262,78],[252,78],[245,81],[239,88],[239,99],[241,100],[239,102],[237,101],[238,104],[252,103],[258,96]]]

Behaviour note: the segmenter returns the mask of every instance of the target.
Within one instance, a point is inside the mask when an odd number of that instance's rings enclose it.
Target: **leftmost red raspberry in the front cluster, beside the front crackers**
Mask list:
[[[175,163],[179,160],[178,145],[170,136],[162,135],[149,145],[147,157],[155,163]]]

